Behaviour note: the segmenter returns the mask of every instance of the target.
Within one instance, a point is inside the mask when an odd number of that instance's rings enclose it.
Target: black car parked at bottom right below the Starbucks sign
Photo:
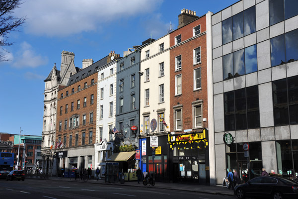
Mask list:
[[[256,177],[247,183],[237,185],[234,195],[245,197],[268,197],[272,199],[298,199],[298,183],[282,177]]]

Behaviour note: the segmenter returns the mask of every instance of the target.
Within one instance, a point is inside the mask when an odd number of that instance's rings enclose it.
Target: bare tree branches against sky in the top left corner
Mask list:
[[[13,43],[8,41],[8,34],[11,31],[18,31],[17,27],[24,23],[25,17],[15,17],[12,15],[13,10],[21,5],[21,0],[0,0],[0,48],[6,51],[2,46],[11,46]],[[6,51],[7,52],[7,51]],[[7,61],[5,56],[0,52],[0,62]]]

